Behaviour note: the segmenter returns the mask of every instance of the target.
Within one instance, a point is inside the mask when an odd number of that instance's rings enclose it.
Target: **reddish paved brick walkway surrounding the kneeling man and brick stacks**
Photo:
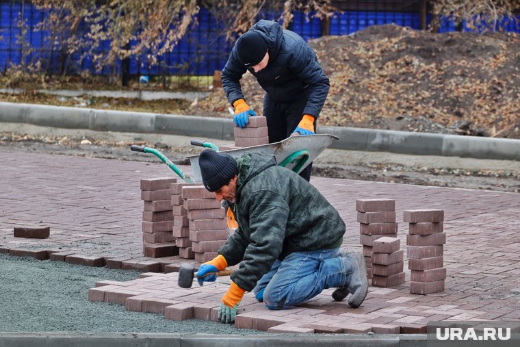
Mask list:
[[[142,257],[140,179],[172,176],[164,164],[3,149],[0,163],[1,252],[44,259],[59,251],[54,254],[81,255],[83,264],[89,264],[86,256],[114,258],[120,263],[111,264],[142,270],[149,270],[151,264],[154,270],[164,270],[167,264],[185,261]],[[402,248],[407,233],[404,209],[445,210],[445,292],[410,294],[405,257],[406,283],[370,287],[359,309],[333,302],[331,290],[286,311],[268,311],[246,294],[236,326],[291,333],[423,333],[426,322],[434,320],[520,320],[520,194],[345,179],[313,178],[312,183],[339,210],[347,224],[345,244],[350,246],[359,245],[356,199],[395,199]],[[51,237],[13,237],[14,226],[40,220],[51,227]],[[175,272],[147,272],[142,279],[126,283],[101,282],[89,297],[164,313],[170,319],[216,319],[229,282],[224,278],[181,290],[176,277]]]

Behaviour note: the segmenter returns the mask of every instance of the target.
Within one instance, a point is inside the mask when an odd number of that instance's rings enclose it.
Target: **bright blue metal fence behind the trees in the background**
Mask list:
[[[24,7],[22,7],[24,6]],[[20,18],[23,13],[23,18]],[[40,60],[42,67],[49,73],[69,74],[81,73],[88,70],[96,75],[109,75],[115,72],[121,73],[122,62],[116,62],[116,66],[105,67],[96,71],[92,56],[86,55],[80,59],[83,52],[69,56],[61,47],[54,47],[51,51],[50,33],[36,31],[35,27],[47,13],[36,9],[30,3],[22,5],[16,1],[0,2],[0,68],[4,70],[10,65],[19,65],[22,60],[25,64]],[[277,14],[273,12],[261,12],[260,18],[272,19]],[[21,19],[29,28],[22,37]],[[520,22],[520,16],[517,18]],[[431,16],[427,17],[429,23]],[[507,18],[505,19],[508,20]],[[190,28],[188,33],[179,41],[170,53],[159,58],[157,64],[151,66],[146,60],[146,55],[130,59],[129,69],[131,75],[213,75],[214,70],[221,70],[226,63],[233,43],[225,40],[224,28],[209,12],[201,9],[197,15],[198,25]],[[335,13],[330,18],[330,35],[347,35],[359,31],[371,25],[395,23],[419,29],[419,13],[411,12],[363,12],[348,11]],[[518,22],[517,22],[518,23]],[[83,28],[86,30],[86,27]],[[313,18],[313,13],[304,14],[294,12],[294,18],[290,29],[300,34],[305,40],[322,36],[322,21]],[[442,21],[439,32],[455,31],[456,25],[450,18]],[[463,29],[471,30],[467,23],[463,23]],[[517,31],[519,28],[513,21],[509,21],[506,30]],[[103,42],[94,53],[103,53],[109,49],[110,42]],[[131,42],[135,44],[135,42]]]

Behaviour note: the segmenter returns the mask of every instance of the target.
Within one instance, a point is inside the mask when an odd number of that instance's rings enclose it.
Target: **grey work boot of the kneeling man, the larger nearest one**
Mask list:
[[[337,293],[337,298],[340,298],[340,294],[344,294],[345,292],[351,293],[350,297],[348,298],[348,305],[356,308],[359,307],[361,303],[363,303],[363,300],[365,300],[368,292],[367,266],[365,264],[365,257],[363,257],[361,252],[354,252],[349,253],[342,258],[346,268],[346,281],[345,287],[338,289],[341,289],[341,292]],[[343,296],[343,298],[345,297]]]

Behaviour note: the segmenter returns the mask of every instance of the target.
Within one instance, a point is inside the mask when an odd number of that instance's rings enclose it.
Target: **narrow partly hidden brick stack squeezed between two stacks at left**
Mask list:
[[[173,215],[173,236],[176,237],[179,257],[193,259],[194,254],[190,242],[190,220],[187,219],[187,209],[184,207],[183,188],[200,186],[200,183],[172,183],[170,185],[170,203]]]

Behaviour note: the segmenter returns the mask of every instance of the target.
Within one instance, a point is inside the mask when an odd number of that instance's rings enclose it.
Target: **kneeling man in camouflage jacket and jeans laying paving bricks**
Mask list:
[[[239,227],[198,269],[198,283],[215,281],[209,272],[240,263],[222,298],[220,322],[235,320],[245,292],[268,309],[290,309],[322,290],[338,287],[334,300],[359,307],[368,290],[361,252],[339,250],[345,223],[313,185],[276,165],[274,155],[202,151],[198,165],[205,188],[225,200]]]

